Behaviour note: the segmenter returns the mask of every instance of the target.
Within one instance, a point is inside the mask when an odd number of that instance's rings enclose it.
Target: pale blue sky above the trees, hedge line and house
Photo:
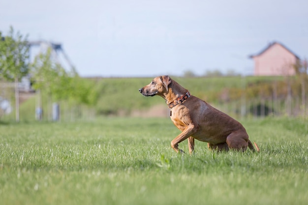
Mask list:
[[[81,76],[249,75],[272,41],[308,58],[308,0],[1,0],[10,26],[62,43]]]

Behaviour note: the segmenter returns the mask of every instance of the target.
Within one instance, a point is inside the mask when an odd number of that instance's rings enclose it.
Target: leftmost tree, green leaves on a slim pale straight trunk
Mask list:
[[[28,74],[29,46],[27,36],[14,33],[0,36],[0,78],[15,82],[16,121],[19,121],[19,80]]]

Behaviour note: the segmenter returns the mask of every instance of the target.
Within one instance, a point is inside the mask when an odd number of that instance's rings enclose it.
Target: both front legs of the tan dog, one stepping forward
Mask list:
[[[184,140],[186,140],[187,138],[189,138],[189,136],[191,136],[192,134],[194,134],[196,131],[198,130],[198,127],[190,124],[188,126],[186,126],[186,128],[183,130],[183,132],[178,135],[176,138],[174,138],[171,141],[171,147],[176,151],[176,152],[184,152],[182,149],[179,149],[179,143],[183,142]],[[190,142],[189,142],[190,141]],[[189,152],[193,150],[193,146],[194,146],[194,140],[192,138],[188,139],[188,143],[192,143],[192,146],[189,146]],[[189,145],[189,144],[188,144]]]

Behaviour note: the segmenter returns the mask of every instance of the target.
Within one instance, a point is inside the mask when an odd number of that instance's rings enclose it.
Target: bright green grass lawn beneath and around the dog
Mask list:
[[[308,120],[242,123],[259,153],[177,154],[168,118],[2,123],[0,204],[307,205]]]

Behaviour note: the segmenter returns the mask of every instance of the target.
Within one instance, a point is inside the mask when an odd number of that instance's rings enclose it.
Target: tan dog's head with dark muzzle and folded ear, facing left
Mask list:
[[[153,79],[153,81],[139,89],[139,92],[144,96],[160,95],[168,91],[168,86],[171,84],[171,78],[169,76],[159,76]]]

